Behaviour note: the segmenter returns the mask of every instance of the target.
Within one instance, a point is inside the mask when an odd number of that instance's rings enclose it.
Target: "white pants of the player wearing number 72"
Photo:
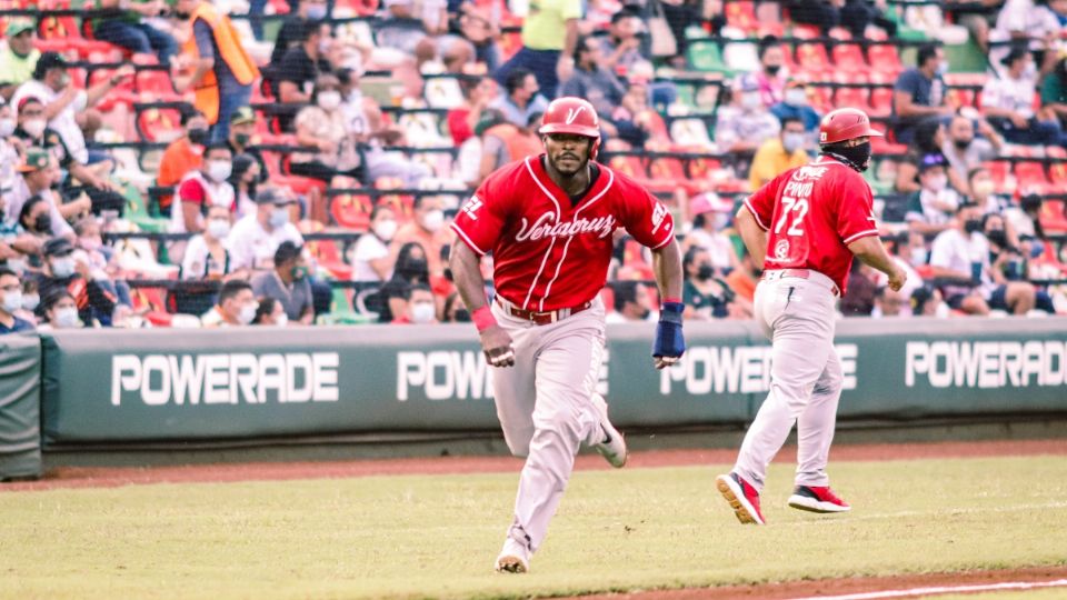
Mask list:
[[[826,463],[842,382],[834,349],[836,296],[830,286],[828,278],[812,272],[811,279],[771,279],[756,287],[756,320],[772,344],[770,392],[745,436],[734,470],[757,490],[794,422],[796,483],[829,484]]]

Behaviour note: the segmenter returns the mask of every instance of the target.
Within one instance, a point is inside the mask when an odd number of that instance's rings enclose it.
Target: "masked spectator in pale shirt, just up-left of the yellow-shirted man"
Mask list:
[[[764,106],[751,77],[735,81],[732,101],[720,107],[717,117],[715,143],[722,152],[754,152],[781,129],[778,119]]]

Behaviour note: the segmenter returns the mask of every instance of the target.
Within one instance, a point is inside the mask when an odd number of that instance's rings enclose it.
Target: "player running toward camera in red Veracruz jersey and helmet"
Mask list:
[[[664,299],[652,356],[657,369],[685,351],[681,257],[667,209],[628,177],[595,162],[599,119],[580,98],[549,104],[538,130],[545,153],[489,176],[452,229],[451,270],[493,372],[508,448],[526,457],[515,520],[496,570],[521,573],[545,540],[585,442],[612,467],[622,436],[596,393],[604,354],[600,290],[612,233],[625,228],[651,249]],[[479,259],[492,252],[496,297],[487,302]]]

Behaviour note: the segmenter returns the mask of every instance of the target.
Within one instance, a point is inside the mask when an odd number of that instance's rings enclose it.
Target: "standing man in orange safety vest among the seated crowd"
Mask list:
[[[188,19],[190,31],[182,49],[187,77],[174,76],[174,89],[196,91],[196,107],[211,123],[211,141],[230,136],[230,114],[248,106],[259,69],[241,44],[240,34],[210,2],[177,0],[176,13]]]

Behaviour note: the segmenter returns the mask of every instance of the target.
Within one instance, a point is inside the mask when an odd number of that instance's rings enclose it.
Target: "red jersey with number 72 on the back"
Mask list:
[[[870,186],[828,157],[790,169],[745,200],[767,230],[765,270],[814,269],[841,293],[852,266],[848,244],[878,234]]]

